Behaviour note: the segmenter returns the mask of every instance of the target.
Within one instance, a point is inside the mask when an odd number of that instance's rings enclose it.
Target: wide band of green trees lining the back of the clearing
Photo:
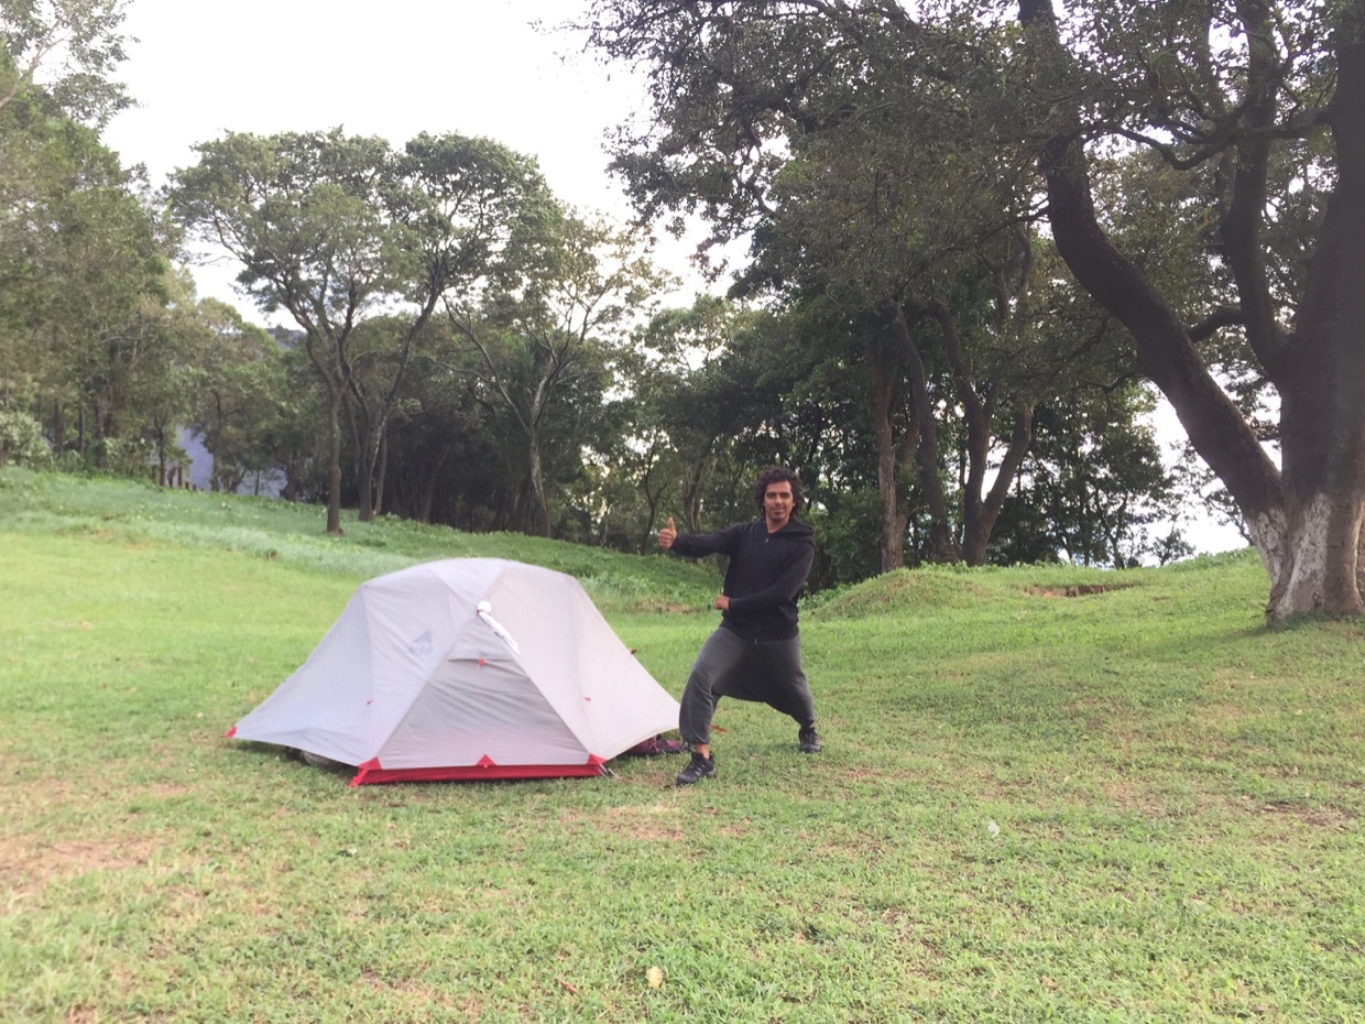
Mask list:
[[[815,587],[1166,563],[1207,502],[1271,621],[1365,610],[1358,0],[595,0],[631,223],[457,132],[229,130],[154,188],[101,137],[126,12],[0,0],[0,464],[176,486],[192,436],[319,530],[627,552],[786,464]],[[715,288],[665,304],[684,223]]]

